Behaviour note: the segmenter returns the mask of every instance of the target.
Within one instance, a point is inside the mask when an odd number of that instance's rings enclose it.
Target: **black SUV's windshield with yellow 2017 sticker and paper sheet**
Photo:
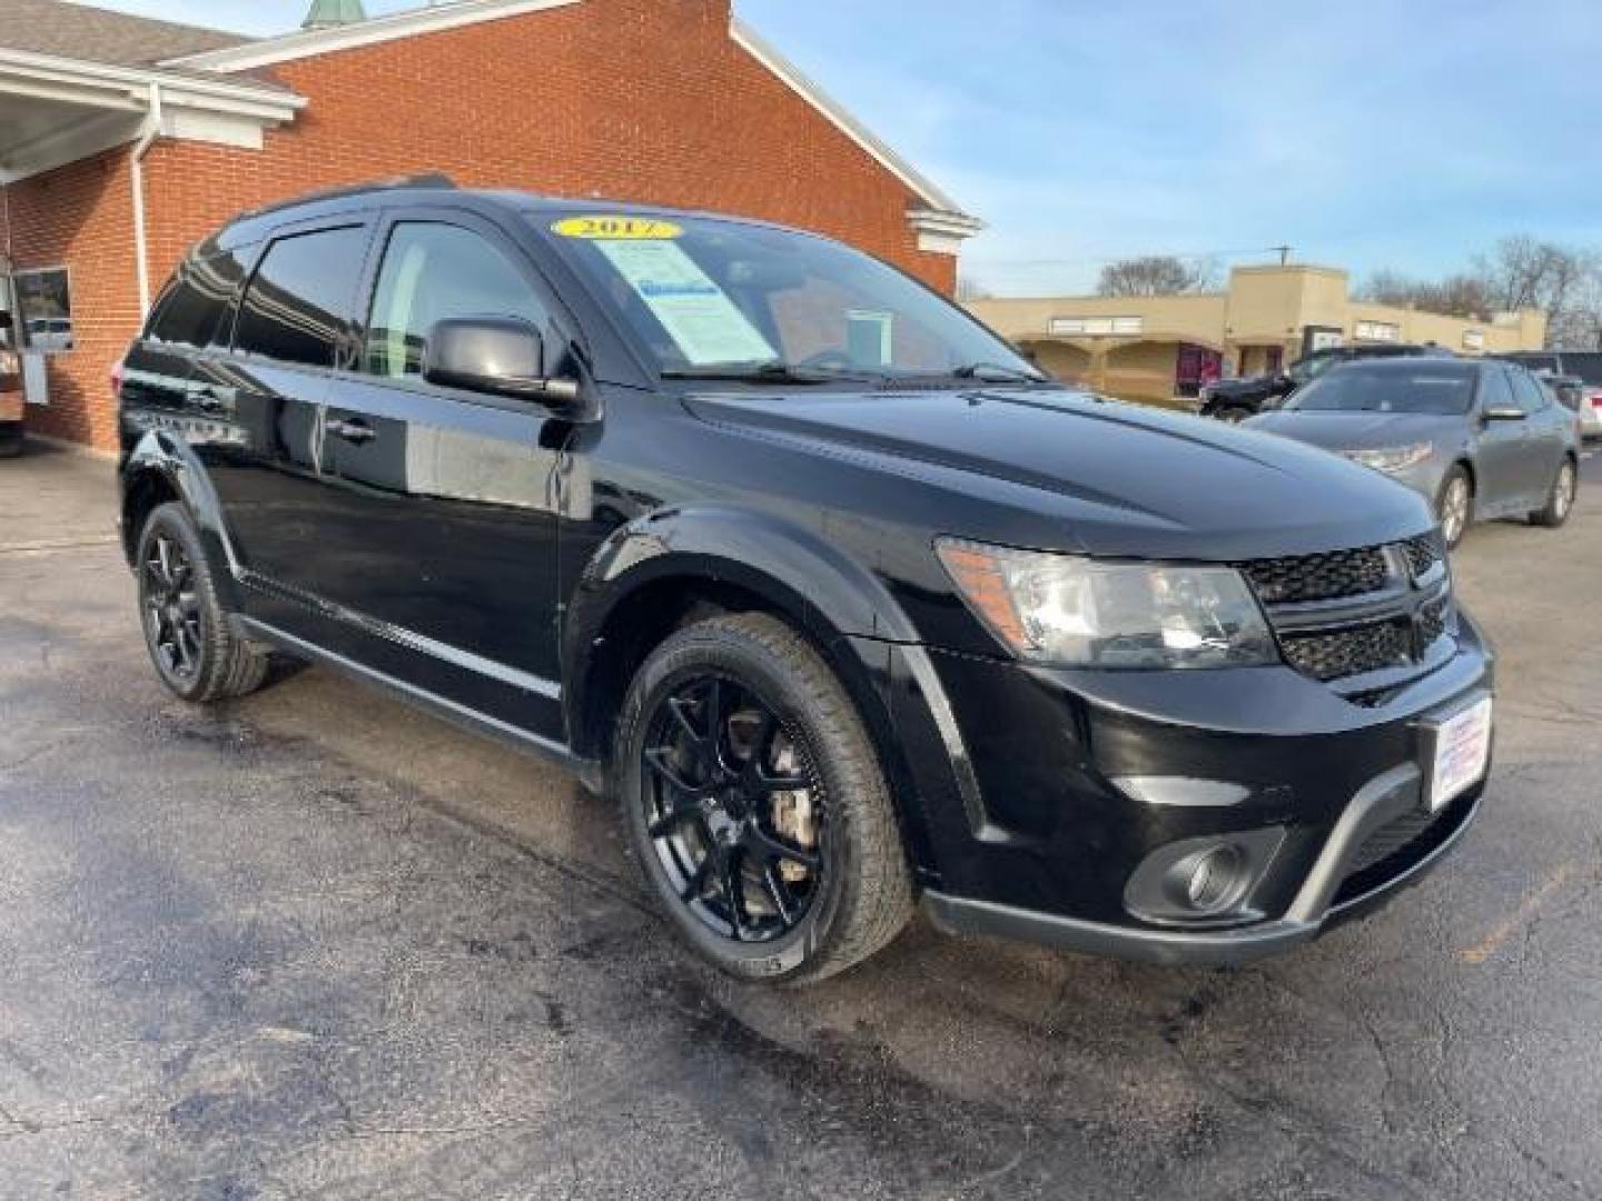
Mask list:
[[[679,215],[535,219],[663,375],[1045,380],[955,304],[828,239]]]

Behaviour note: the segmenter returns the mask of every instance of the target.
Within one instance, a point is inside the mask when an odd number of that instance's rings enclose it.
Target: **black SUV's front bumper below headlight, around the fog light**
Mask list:
[[[1490,652],[1467,618],[1456,655],[1371,708],[1288,668],[1077,673],[900,655],[928,658],[923,671],[905,665],[894,713],[921,764],[924,905],[952,932],[1168,964],[1246,962],[1419,879],[1479,809],[1483,785],[1421,818],[1429,719],[1491,687]],[[1120,783],[1131,778],[1177,791],[1136,799]],[[1211,793],[1187,793],[1197,781]],[[1131,879],[1153,852],[1261,829],[1280,839],[1238,911],[1197,921],[1133,911]]]

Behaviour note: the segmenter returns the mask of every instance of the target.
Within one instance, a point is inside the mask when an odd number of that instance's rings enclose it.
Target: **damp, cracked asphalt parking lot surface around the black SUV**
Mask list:
[[[1602,1198],[1602,456],[1469,533],[1447,866],[1290,958],[698,967],[612,813],[324,671],[173,701],[111,466],[0,463],[0,1196]]]

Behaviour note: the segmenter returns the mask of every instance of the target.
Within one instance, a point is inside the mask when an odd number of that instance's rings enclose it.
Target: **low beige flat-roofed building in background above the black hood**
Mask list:
[[[1334,267],[1235,267],[1224,291],[982,299],[969,309],[1045,370],[1126,400],[1171,404],[1216,375],[1275,372],[1315,349],[1434,343],[1458,354],[1536,351],[1546,314],[1440,317],[1354,301]]]

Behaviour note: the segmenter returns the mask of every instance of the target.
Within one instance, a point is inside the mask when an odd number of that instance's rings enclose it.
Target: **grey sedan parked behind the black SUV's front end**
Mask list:
[[[1573,415],[1530,372],[1493,359],[1350,364],[1248,424],[1407,484],[1435,506],[1447,546],[1472,520],[1562,525],[1580,485]]]

